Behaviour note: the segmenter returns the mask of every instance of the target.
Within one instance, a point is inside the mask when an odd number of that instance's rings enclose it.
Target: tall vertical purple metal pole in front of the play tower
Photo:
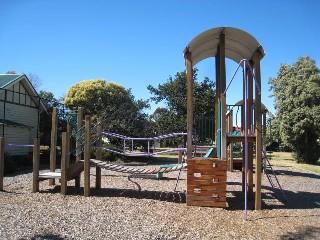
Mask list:
[[[245,112],[245,123],[244,123],[244,157],[245,157],[245,188],[244,188],[244,220],[247,220],[247,211],[248,211],[248,183],[247,183],[247,174],[248,174],[248,82],[247,82],[247,60],[243,62],[243,80],[244,80],[244,112]]]

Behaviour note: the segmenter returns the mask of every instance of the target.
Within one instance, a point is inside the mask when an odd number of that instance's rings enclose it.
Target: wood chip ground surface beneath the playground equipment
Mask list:
[[[174,192],[178,172],[159,180],[102,169],[96,190],[92,168],[91,197],[84,197],[74,181],[67,196],[59,181],[40,182],[40,192],[31,193],[32,173],[25,170],[4,179],[0,239],[320,239],[320,175],[274,169],[288,202],[263,176],[263,210],[250,202],[246,221],[239,171],[227,173],[228,207],[221,209],[186,206],[185,171]]]

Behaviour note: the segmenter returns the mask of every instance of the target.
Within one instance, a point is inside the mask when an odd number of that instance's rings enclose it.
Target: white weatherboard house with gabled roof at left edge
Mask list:
[[[38,93],[26,75],[0,74],[0,136],[5,138],[5,153],[26,155],[37,137],[39,116],[46,111]]]

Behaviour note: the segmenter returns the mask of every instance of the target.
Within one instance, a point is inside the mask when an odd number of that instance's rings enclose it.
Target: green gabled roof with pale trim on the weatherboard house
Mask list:
[[[23,84],[36,106],[39,106],[40,104],[40,111],[47,111],[43,102],[41,100],[39,102],[39,94],[25,74],[0,74],[0,89],[8,89],[17,82],[21,82]]]

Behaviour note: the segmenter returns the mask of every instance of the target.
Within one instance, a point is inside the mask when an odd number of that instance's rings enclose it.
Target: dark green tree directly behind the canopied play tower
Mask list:
[[[215,83],[205,77],[202,82],[197,81],[197,69],[193,71],[194,80],[194,115],[214,116]],[[147,86],[151,97],[156,103],[164,102],[166,109],[157,109],[151,118],[155,122],[155,132],[166,134],[171,132],[185,132],[187,118],[187,76],[186,72],[177,72],[170,76],[166,83],[158,87]]]

